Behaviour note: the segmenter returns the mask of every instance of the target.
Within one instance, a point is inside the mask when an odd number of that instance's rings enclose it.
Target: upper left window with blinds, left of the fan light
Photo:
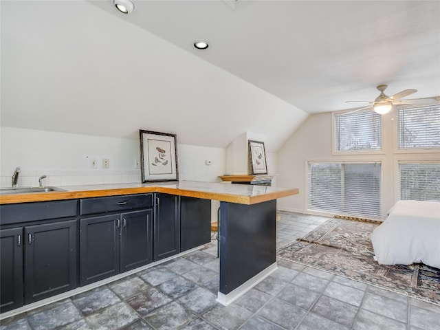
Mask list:
[[[382,150],[382,118],[374,111],[333,113],[333,150]]]

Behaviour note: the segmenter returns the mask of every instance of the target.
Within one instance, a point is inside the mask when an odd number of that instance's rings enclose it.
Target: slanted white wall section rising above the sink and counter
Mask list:
[[[146,129],[217,148],[249,130],[274,152],[307,117],[192,54],[192,39],[182,50],[104,2],[111,12],[0,1],[2,126],[132,139]]]

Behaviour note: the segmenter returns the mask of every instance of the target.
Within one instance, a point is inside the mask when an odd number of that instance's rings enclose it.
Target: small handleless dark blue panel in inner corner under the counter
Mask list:
[[[184,197],[180,199],[180,251],[211,241],[211,201]]]

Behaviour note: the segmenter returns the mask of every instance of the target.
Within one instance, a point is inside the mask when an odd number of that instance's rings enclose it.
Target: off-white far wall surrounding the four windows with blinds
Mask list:
[[[278,199],[278,208],[307,213],[307,161],[375,160],[382,162],[382,219],[397,200],[397,160],[439,160],[434,153],[395,152],[393,113],[382,117],[384,152],[375,155],[332,155],[331,113],[311,115],[278,151],[278,186],[299,188],[299,195]]]

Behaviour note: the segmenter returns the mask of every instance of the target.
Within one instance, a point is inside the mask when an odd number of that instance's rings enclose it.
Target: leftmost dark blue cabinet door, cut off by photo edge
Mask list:
[[[0,230],[0,312],[23,305],[23,227]]]

